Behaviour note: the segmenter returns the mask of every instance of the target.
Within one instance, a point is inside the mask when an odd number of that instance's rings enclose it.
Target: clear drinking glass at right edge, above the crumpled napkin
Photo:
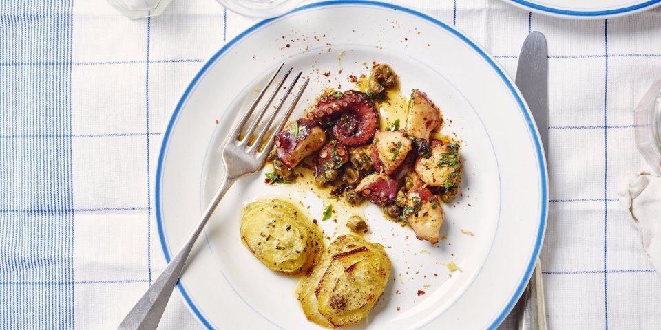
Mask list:
[[[656,80],[634,110],[636,147],[656,173],[661,173],[661,79]]]

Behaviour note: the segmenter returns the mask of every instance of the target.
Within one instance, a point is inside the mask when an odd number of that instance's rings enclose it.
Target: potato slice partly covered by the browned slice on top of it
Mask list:
[[[297,299],[301,302],[303,312],[308,320],[324,327],[333,327],[333,324],[330,323],[325,316],[319,313],[319,303],[317,301],[317,296],[315,295],[315,290],[317,289],[322,276],[324,276],[326,268],[333,255],[358,248],[365,242],[364,239],[353,235],[342,235],[337,237],[337,239],[328,245],[328,250],[322,255],[322,259],[315,264],[312,271],[301,278],[301,281],[299,281],[296,287],[296,295]]]

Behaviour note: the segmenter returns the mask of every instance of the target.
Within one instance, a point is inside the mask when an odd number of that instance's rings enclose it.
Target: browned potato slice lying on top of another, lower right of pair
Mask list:
[[[335,327],[360,322],[376,305],[390,276],[384,247],[365,241],[334,254],[315,290],[319,313]]]

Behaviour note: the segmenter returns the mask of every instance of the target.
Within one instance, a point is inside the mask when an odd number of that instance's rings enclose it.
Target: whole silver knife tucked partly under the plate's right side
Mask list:
[[[516,86],[523,94],[537,124],[548,162],[549,152],[549,56],[546,38],[532,32],[523,41],[516,67]],[[530,282],[518,301],[518,329],[546,330],[544,285],[539,258]]]

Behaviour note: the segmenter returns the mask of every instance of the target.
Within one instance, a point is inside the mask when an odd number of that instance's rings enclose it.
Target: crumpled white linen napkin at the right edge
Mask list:
[[[661,274],[661,176],[630,175],[618,185],[618,195],[638,227],[647,258]]]

